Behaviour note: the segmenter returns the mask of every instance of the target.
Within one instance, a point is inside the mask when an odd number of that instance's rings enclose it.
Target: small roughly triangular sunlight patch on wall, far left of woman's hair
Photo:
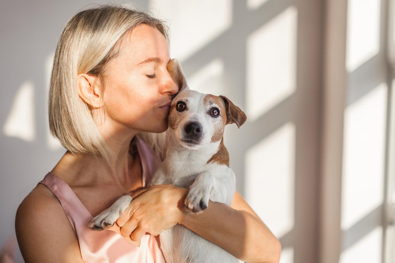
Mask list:
[[[15,95],[3,125],[4,134],[24,141],[33,141],[36,136],[34,117],[34,85],[31,81],[26,81]]]

